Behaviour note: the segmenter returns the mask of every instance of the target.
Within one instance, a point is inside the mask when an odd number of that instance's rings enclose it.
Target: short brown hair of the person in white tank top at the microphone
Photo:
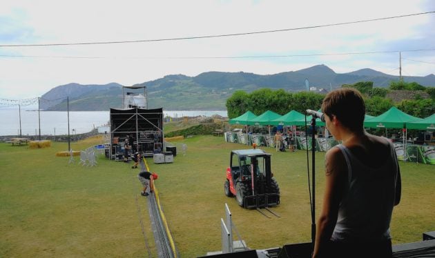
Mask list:
[[[332,115],[351,130],[363,130],[365,103],[363,95],[354,88],[340,88],[329,92],[322,102],[322,112]]]

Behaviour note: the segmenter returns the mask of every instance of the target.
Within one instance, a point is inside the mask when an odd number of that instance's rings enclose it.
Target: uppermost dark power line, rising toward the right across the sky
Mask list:
[[[331,26],[342,26],[348,24],[355,23],[365,23],[369,21],[383,21],[387,19],[398,19],[404,17],[412,17],[416,15],[422,14],[432,14],[435,11],[430,12],[419,12],[415,14],[403,14],[392,17],[383,17],[376,19],[365,19],[360,21],[347,21],[342,23],[329,23],[322,24],[316,26],[307,26],[307,27],[299,27],[299,28],[287,28],[287,29],[279,29],[279,30],[261,30],[256,32],[241,32],[241,33],[233,33],[233,34],[216,34],[216,35],[205,35],[205,36],[193,36],[193,37],[179,37],[179,38],[167,38],[167,39],[142,39],[142,40],[133,40],[133,41],[97,41],[97,42],[79,42],[79,43],[45,43],[45,44],[17,44],[17,45],[0,45],[0,47],[39,47],[39,46],[79,46],[79,45],[99,45],[99,44],[119,44],[119,43],[145,43],[145,42],[157,42],[157,41],[177,41],[177,40],[186,40],[186,39],[208,39],[208,38],[217,38],[217,37],[235,37],[235,36],[245,36],[251,34],[264,34],[264,33],[273,33],[273,32],[285,32],[291,30],[307,30],[313,28],[325,28]]]

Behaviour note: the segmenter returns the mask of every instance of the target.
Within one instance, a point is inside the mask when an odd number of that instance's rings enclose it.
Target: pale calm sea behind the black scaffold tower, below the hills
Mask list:
[[[203,111],[203,110],[164,110],[164,117],[211,117],[220,115],[227,117],[224,111]],[[21,119],[20,119],[21,118]],[[94,128],[105,126],[109,123],[109,111],[70,111],[69,128],[70,135],[90,132]],[[38,111],[26,108],[0,108],[0,135],[67,135],[68,134],[68,112],[66,111]]]

